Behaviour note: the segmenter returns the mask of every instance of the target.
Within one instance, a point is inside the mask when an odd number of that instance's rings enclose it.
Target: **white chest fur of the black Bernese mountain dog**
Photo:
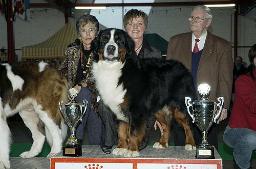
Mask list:
[[[92,71],[101,99],[112,109],[117,119],[129,122],[129,118],[124,116],[120,108],[126,90],[123,90],[122,84],[117,86],[123,65],[120,62],[110,64],[99,61],[93,63]]]

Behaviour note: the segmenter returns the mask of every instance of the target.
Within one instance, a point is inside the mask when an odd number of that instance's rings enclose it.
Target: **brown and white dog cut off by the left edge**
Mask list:
[[[38,155],[45,138],[51,152],[61,151],[68,127],[60,113],[58,102],[68,99],[67,79],[47,63],[0,64],[0,168],[10,168],[11,132],[7,118],[17,112],[30,129],[33,145],[20,157]]]

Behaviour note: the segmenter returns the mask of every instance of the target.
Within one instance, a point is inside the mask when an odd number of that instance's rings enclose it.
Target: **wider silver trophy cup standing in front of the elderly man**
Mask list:
[[[198,86],[198,92],[201,99],[193,101],[190,104],[191,98],[185,97],[185,104],[187,106],[188,114],[193,119],[193,123],[196,122],[198,128],[202,132],[202,143],[197,146],[196,158],[215,158],[214,148],[207,142],[207,132],[211,125],[219,118],[224,103],[224,98],[219,97],[217,104],[215,101],[209,100],[208,95],[210,92],[210,86],[203,83]],[[192,107],[192,114],[189,107]],[[219,112],[217,113],[219,107]]]

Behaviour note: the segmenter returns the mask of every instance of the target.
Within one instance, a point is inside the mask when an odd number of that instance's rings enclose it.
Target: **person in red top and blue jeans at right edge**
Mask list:
[[[256,150],[256,44],[249,50],[250,72],[236,81],[236,97],[228,125],[223,134],[224,142],[233,148],[233,160],[239,168],[252,168],[250,159]]]

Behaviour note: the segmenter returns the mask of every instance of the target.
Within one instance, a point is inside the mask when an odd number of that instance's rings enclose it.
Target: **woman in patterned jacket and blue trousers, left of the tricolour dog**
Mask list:
[[[98,35],[99,21],[93,15],[82,15],[76,21],[76,31],[81,44],[67,48],[59,71],[68,79],[69,88],[78,90],[77,101],[88,101],[86,114],[77,127],[77,138],[82,143],[83,130],[87,123],[89,144],[100,145],[102,121],[95,114],[95,90],[90,74],[93,55],[91,42]]]

